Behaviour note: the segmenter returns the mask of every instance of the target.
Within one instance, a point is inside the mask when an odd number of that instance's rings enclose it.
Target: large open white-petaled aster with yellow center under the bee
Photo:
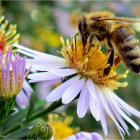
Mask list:
[[[47,101],[54,102],[62,98],[62,103],[68,104],[79,97],[78,117],[84,117],[89,108],[93,117],[101,122],[106,136],[108,135],[108,128],[105,113],[113,120],[122,138],[125,132],[129,135],[125,121],[139,130],[139,126],[130,118],[130,115],[133,114],[140,118],[140,112],[125,103],[113,92],[119,87],[127,86],[126,82],[117,81],[127,77],[128,73],[126,71],[124,74],[117,74],[115,71],[120,63],[117,53],[110,73],[104,75],[109,56],[103,54],[99,46],[95,45],[89,50],[89,44],[87,43],[86,47],[83,47],[78,38],[76,42],[73,38],[71,42],[69,40],[65,42],[61,38],[61,42],[63,44],[61,54],[64,58],[14,44],[20,49],[19,52],[33,58],[27,59],[27,67],[32,65],[34,72],[28,76],[31,79],[30,82],[46,81],[50,84],[62,80],[63,83],[47,96]]]

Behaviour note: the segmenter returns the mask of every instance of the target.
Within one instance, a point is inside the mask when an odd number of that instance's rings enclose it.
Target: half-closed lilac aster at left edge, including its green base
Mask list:
[[[15,98],[22,90],[25,74],[25,57],[12,56],[8,50],[6,56],[0,51],[0,124],[10,115]]]

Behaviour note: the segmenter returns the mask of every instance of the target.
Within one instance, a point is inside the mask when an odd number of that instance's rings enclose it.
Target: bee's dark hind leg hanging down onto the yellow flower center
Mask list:
[[[109,64],[109,66],[107,68],[104,69],[104,75],[108,75],[110,73],[111,67],[113,66],[113,61],[114,61],[114,48],[110,42],[110,38],[108,38],[108,45],[111,49],[111,53],[108,59],[107,64]]]

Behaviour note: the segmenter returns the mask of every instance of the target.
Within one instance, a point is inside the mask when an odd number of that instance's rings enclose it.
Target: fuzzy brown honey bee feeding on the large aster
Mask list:
[[[104,74],[108,75],[114,63],[114,49],[117,50],[119,59],[122,59],[128,69],[140,73],[140,44],[135,32],[128,25],[140,22],[139,19],[115,17],[111,12],[95,12],[84,14],[78,20],[78,30],[83,46],[89,39],[89,49],[93,46],[94,39],[101,44],[106,44],[110,52],[109,65],[104,69]]]

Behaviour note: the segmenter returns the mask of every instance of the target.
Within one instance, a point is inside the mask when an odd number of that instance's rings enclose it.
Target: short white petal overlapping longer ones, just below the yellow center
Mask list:
[[[97,91],[95,89],[95,85],[93,84],[92,80],[87,81],[87,88],[94,101],[97,101],[97,94],[96,94]]]

